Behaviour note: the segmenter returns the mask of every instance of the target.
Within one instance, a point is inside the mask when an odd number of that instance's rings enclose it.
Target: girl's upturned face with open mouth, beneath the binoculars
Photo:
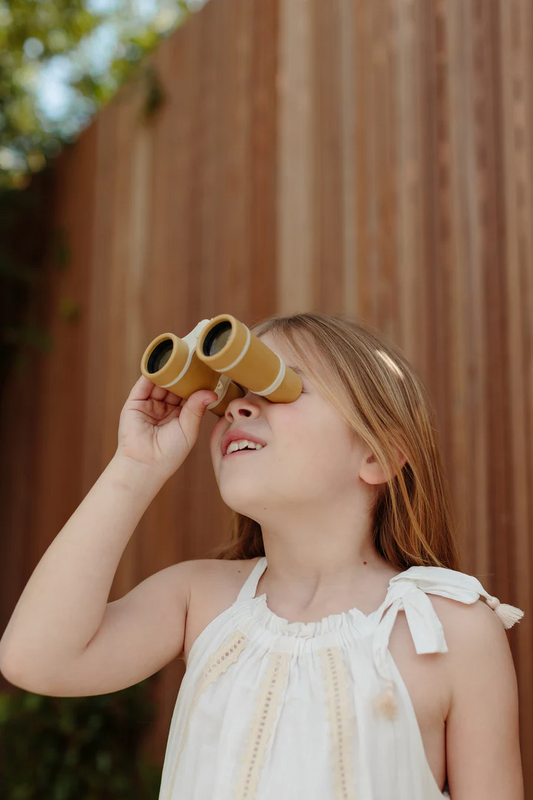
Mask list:
[[[286,366],[300,367],[290,351],[270,334],[261,341]],[[232,400],[210,436],[211,457],[223,501],[259,524],[273,522],[278,511],[315,518],[332,506],[354,508],[354,492],[362,499],[368,485],[359,471],[370,455],[338,412],[303,374],[302,393],[292,403],[273,403],[248,391]],[[222,436],[242,429],[266,442],[223,458]],[[243,438],[246,438],[243,436]]]

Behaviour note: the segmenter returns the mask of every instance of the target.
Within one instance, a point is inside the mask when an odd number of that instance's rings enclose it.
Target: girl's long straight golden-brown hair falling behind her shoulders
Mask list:
[[[427,391],[406,357],[370,324],[340,314],[276,315],[251,328],[281,337],[316,388],[389,475],[370,509],[376,551],[400,569],[459,569],[449,487]],[[398,464],[398,449],[407,458]],[[261,526],[233,513],[211,556],[264,556]]]

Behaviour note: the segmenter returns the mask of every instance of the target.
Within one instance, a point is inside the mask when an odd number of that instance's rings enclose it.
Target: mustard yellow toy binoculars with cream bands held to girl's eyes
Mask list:
[[[184,399],[211,389],[217,400],[207,408],[218,417],[244,396],[242,386],[273,403],[292,403],[302,391],[300,376],[231,314],[203,319],[182,339],[160,334],[144,351],[141,372]]]

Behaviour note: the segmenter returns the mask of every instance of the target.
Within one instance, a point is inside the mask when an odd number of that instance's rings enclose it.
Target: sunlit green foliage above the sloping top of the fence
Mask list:
[[[176,0],[175,21],[165,27],[157,18],[149,24],[135,19],[129,0],[120,6],[111,18],[88,11],[86,0],[0,0],[0,189],[27,186],[191,13],[185,0]],[[102,70],[86,46],[104,25],[113,26],[118,40]],[[39,108],[37,83],[59,56],[70,65],[74,99],[65,119],[52,120]],[[153,99],[152,93],[148,111]]]

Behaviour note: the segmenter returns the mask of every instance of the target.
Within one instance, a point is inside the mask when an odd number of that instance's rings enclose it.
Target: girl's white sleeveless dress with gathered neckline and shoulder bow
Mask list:
[[[193,643],[159,800],[449,798],[429,767],[389,637],[403,609],[416,652],[445,653],[426,593],[462,603],[484,596],[495,610],[497,598],[471,575],[410,567],[369,615],[352,608],[289,623],[266,594],[255,597],[266,567],[260,558],[235,603]],[[515,618],[504,621],[504,609]],[[505,627],[523,613],[500,611]]]

